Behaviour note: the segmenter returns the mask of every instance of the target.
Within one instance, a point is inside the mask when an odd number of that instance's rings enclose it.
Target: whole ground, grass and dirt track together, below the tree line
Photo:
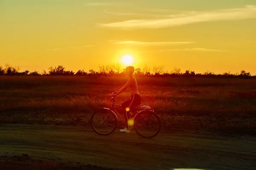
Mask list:
[[[96,134],[90,116],[126,80],[0,77],[0,169],[255,169],[256,79],[138,77],[160,133]],[[116,103],[128,98],[126,91]]]

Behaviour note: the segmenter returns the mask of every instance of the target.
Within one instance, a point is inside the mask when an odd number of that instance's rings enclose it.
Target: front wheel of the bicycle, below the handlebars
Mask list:
[[[116,129],[116,115],[108,109],[99,109],[90,119],[93,130],[100,135],[109,135]]]

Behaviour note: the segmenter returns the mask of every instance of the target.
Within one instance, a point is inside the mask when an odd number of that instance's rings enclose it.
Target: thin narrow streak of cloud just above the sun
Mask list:
[[[154,46],[154,45],[183,45],[191,44],[195,42],[191,41],[178,41],[178,42],[143,42],[143,41],[110,41],[115,44],[132,44],[132,45],[145,45],[145,46]]]

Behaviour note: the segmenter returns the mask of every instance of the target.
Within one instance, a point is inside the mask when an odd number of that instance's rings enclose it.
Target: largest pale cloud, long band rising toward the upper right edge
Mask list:
[[[244,8],[219,9],[215,11],[189,12],[184,16],[174,16],[165,19],[143,19],[126,20],[116,23],[97,24],[107,28],[166,28],[183,26],[192,23],[244,20],[256,18],[256,6],[245,6]]]

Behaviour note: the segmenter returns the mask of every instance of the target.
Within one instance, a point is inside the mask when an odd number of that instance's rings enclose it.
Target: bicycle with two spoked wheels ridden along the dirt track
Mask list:
[[[95,111],[90,119],[93,130],[100,135],[109,135],[116,130],[117,115],[123,122],[125,122],[125,119],[123,119],[120,113],[118,113],[114,108],[114,106],[122,106],[115,105],[115,99],[111,96],[110,98],[111,102],[113,101],[111,108],[101,108]],[[145,105],[137,105],[134,107],[133,115],[128,119],[128,123],[129,126],[133,126],[136,133],[143,138],[152,138],[157,136],[161,129],[160,119],[155,114],[154,109]],[[145,130],[145,132],[143,130]]]

